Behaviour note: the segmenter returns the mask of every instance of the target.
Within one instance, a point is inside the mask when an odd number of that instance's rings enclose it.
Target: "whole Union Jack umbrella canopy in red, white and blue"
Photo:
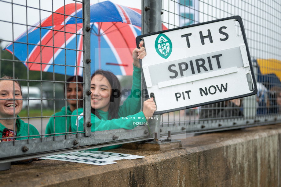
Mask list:
[[[131,75],[135,38],[141,34],[141,11],[110,1],[93,4],[90,10],[91,72],[101,68]],[[56,12],[5,49],[30,70],[82,75],[82,4],[71,3]]]

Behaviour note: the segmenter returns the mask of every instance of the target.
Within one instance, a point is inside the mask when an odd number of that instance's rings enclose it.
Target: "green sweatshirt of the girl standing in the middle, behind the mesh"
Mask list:
[[[46,126],[46,134],[69,132],[71,113],[72,112],[70,111],[70,106],[67,106],[66,115],[69,116],[67,117],[65,116],[65,107],[61,108],[60,112],[57,112],[55,115],[52,115],[52,116],[64,116],[64,117],[51,117]],[[56,122],[55,132],[54,132],[54,119]],[[66,128],[65,128],[65,122],[66,122]],[[59,135],[65,135],[65,134],[56,134],[55,136],[59,136]],[[54,136],[54,135],[46,135],[45,137],[47,136]]]

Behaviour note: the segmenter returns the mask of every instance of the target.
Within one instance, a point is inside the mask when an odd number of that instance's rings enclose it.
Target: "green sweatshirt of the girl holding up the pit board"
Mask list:
[[[109,120],[108,111],[97,110],[99,112],[99,119],[96,115],[91,113],[91,131],[103,131],[111,129],[133,129],[137,125],[135,122],[146,122],[144,113],[140,112],[140,68],[133,66],[133,86],[130,96],[119,106],[118,117],[116,119]],[[83,115],[83,108],[78,108],[72,112],[72,115]],[[78,120],[78,123],[77,123]],[[83,116],[71,116],[71,131],[84,131],[83,128]],[[107,146],[90,150],[109,150],[120,147],[121,145]]]

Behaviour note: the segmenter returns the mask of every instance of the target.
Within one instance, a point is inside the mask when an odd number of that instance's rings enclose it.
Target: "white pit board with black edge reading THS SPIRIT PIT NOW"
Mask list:
[[[193,108],[257,93],[240,16],[144,34],[140,60],[156,114]]]

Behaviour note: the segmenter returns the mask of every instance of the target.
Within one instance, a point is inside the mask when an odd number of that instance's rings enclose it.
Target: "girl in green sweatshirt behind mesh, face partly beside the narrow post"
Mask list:
[[[68,106],[63,107],[61,111],[55,113],[54,117],[49,119],[49,122],[46,126],[46,136],[55,136],[65,135],[65,132],[71,132],[70,128],[70,115],[77,108],[77,99],[80,99],[83,95],[83,78],[81,76],[72,76],[66,80],[66,98]],[[74,82],[74,83],[70,83]],[[78,83],[75,83],[78,82]],[[65,93],[65,87],[64,87]],[[79,102],[79,101],[78,101]]]

